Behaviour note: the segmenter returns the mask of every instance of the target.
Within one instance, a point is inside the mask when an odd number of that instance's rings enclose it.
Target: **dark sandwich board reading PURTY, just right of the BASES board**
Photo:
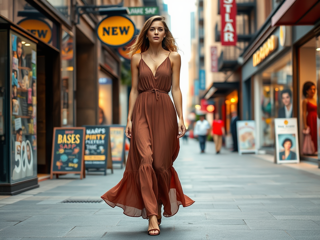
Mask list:
[[[108,126],[84,126],[84,164],[87,171],[104,172],[112,167],[110,128]]]

